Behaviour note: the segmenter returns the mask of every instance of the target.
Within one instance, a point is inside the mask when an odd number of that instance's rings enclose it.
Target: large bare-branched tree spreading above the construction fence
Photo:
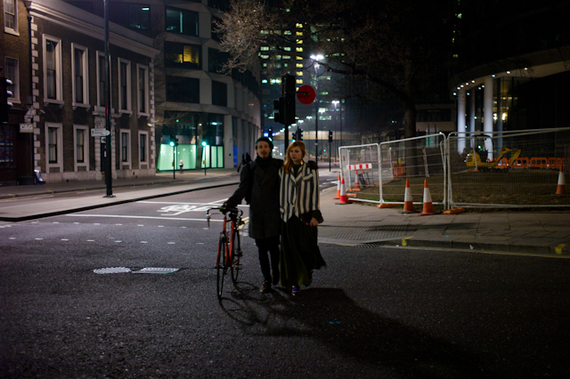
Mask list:
[[[406,138],[416,135],[416,93],[429,79],[422,69],[448,60],[451,2],[412,0],[231,0],[218,25],[221,48],[232,60],[225,69],[245,69],[262,44],[313,41],[330,72],[361,77],[393,93],[403,104]],[[303,36],[284,35],[302,23]],[[362,81],[361,81],[362,83]]]

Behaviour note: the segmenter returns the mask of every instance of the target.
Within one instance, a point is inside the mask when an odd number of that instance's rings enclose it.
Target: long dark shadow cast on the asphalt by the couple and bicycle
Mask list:
[[[403,377],[506,376],[493,367],[493,356],[363,309],[342,289],[308,288],[292,297],[282,289],[264,295],[255,286],[238,286],[221,304],[248,335],[311,338],[350,359],[389,367]]]

